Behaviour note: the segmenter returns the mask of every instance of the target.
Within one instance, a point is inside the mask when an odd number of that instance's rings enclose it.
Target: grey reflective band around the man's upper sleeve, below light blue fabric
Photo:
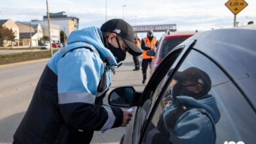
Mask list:
[[[95,103],[95,97],[93,94],[87,92],[68,92],[58,94],[58,104],[65,103]]]

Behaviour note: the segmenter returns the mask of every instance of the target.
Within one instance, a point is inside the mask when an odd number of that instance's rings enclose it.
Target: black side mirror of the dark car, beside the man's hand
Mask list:
[[[135,89],[133,86],[123,86],[116,88],[110,92],[108,103],[112,106],[131,107],[133,98],[135,97]]]

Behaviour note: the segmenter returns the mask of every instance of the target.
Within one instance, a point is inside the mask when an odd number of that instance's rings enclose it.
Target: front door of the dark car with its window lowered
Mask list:
[[[139,103],[131,124],[127,126],[127,132],[123,143],[139,143],[142,129],[144,128],[144,124],[148,118],[148,113],[150,113],[152,106],[154,106],[154,103],[156,102],[156,98],[153,98],[153,96],[157,96],[156,93],[161,92],[160,83],[163,83],[163,77],[167,75],[167,72],[172,65],[177,65],[177,62],[179,62],[179,56],[183,55],[192,43],[194,43],[194,41],[188,41],[186,46],[177,46],[177,48],[173,49],[173,51],[166,56],[163,62],[160,63],[158,69],[156,69],[154,75],[152,75],[140,96],[140,98],[142,98],[140,101],[142,102]]]

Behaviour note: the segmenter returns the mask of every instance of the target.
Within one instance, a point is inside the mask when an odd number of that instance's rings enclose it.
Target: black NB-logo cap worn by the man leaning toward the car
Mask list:
[[[123,38],[123,41],[128,46],[128,52],[133,56],[140,56],[142,51],[135,44],[135,33],[133,31],[133,27],[129,25],[127,22],[121,19],[112,19],[105,22],[101,27],[101,31],[107,31],[110,33],[116,33]]]

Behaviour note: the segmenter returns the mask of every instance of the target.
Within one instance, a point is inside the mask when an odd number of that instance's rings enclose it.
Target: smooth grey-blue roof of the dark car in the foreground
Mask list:
[[[194,35],[188,41],[194,39],[194,48],[221,65],[255,107],[256,29],[216,29]]]

